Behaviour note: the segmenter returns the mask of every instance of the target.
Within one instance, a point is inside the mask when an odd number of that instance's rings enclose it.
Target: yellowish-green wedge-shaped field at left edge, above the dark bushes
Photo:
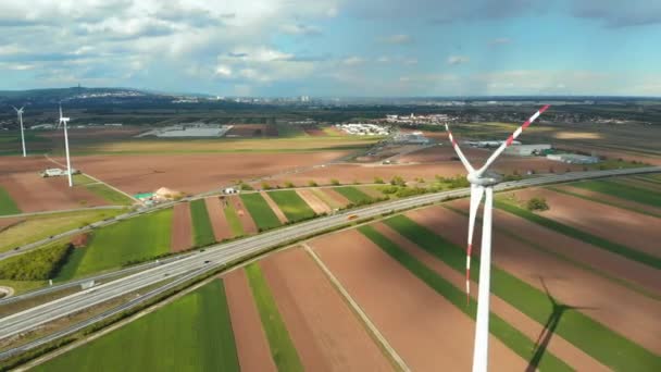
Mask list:
[[[124,212],[123,210],[89,210],[26,216],[23,222],[0,232],[0,252]]]

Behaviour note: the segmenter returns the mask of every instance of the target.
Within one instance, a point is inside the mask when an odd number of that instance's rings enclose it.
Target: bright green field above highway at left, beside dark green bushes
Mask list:
[[[87,247],[74,250],[58,280],[65,281],[170,252],[172,209],[97,230]]]

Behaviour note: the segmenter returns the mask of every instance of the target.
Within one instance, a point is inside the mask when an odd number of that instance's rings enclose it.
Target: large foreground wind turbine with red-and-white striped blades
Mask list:
[[[521,135],[523,129],[527,128],[541,113],[544,113],[550,106],[547,104],[539,109],[531,119],[523,123],[510,137],[503,141],[494,153],[487,159],[485,164],[475,170],[469,163],[463,152],[459,148],[457,140],[452,136],[452,132],[446,124],[446,131],[448,137],[452,142],[452,147],[459,159],[463,163],[463,166],[469,172],[466,178],[471,183],[471,209],[469,214],[469,246],[466,248],[466,300],[471,296],[471,251],[473,250],[473,230],[475,227],[475,216],[477,214],[477,208],[482,202],[483,195],[486,194],[484,201],[484,218],[482,220],[482,246],[481,246],[481,265],[479,265],[479,283],[477,292],[477,320],[475,326],[475,346],[473,348],[473,372],[486,372],[488,365],[488,349],[489,349],[489,292],[490,292],[490,278],[491,278],[491,215],[494,208],[494,185],[497,185],[502,181],[502,177],[494,172],[487,171],[489,165],[496,161],[496,159],[504,151],[504,149],[512,145],[514,139]]]

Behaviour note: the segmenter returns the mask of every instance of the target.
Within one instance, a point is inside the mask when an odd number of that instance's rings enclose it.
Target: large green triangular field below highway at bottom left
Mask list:
[[[36,371],[239,371],[225,288],[215,280]]]

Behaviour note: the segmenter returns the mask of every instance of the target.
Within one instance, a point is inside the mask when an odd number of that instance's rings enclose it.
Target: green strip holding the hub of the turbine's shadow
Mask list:
[[[390,218],[385,223],[458,272],[464,272],[465,253],[462,248],[404,215]],[[471,277],[476,281],[479,259],[474,257],[473,262],[475,270],[471,270]],[[491,265],[491,293],[540,324],[546,324],[553,314],[551,301],[544,292],[495,265]],[[661,371],[661,357],[579,311],[564,311],[554,331],[613,370]]]

